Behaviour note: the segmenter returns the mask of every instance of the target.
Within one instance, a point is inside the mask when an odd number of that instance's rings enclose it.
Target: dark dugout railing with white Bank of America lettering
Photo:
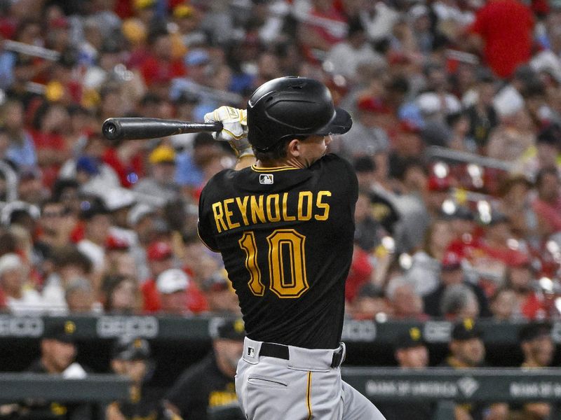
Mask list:
[[[561,369],[522,370],[479,368],[424,370],[344,367],[343,377],[367,398],[376,402],[435,402],[434,420],[454,419],[454,403],[553,402],[551,419],[559,419]]]

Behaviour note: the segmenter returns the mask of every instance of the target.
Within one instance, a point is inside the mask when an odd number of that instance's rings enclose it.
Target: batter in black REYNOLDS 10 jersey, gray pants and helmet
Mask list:
[[[246,336],[236,393],[248,420],[384,420],[341,379],[344,283],[353,252],[356,176],[326,154],[351,128],[317,80],[283,77],[247,110],[222,106],[219,140],[238,156],[199,202],[198,233],[222,253]]]

